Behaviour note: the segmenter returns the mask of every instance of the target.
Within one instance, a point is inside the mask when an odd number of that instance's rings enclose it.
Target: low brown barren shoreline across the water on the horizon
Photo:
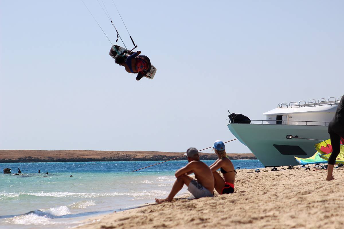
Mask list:
[[[257,159],[253,153],[228,153],[231,160]],[[0,163],[89,162],[89,161],[165,161],[183,152],[99,151],[99,150],[0,150]],[[185,160],[181,157],[175,160]],[[201,160],[216,160],[214,153],[200,153]]]

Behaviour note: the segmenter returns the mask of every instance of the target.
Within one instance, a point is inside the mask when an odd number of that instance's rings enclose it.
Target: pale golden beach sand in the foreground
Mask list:
[[[343,167],[329,182],[327,170],[260,170],[238,170],[233,194],[177,198],[94,217],[78,228],[344,228]]]

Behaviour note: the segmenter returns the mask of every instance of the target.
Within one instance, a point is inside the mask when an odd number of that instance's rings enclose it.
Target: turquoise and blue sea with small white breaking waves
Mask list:
[[[0,163],[0,228],[73,228],[96,215],[152,204],[167,197],[174,172],[187,164],[168,161],[132,172],[159,162]],[[240,169],[264,167],[259,160],[232,162]],[[5,168],[12,173],[3,174]],[[22,173],[15,175],[18,168]],[[182,194],[189,194],[185,185]]]

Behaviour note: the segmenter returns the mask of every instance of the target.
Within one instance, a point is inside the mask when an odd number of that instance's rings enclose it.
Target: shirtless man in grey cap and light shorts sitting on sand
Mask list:
[[[166,199],[155,199],[155,202],[158,204],[165,201],[172,201],[173,197],[182,189],[184,184],[188,187],[187,190],[196,198],[214,195],[213,173],[208,165],[200,161],[198,150],[189,148],[184,155],[187,156],[189,163],[175,172],[177,180],[174,182],[169,196]],[[197,180],[187,175],[191,173],[195,174]]]

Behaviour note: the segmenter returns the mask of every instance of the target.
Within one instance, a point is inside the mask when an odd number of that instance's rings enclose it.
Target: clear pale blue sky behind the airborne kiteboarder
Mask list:
[[[97,0],[84,2],[115,44]],[[0,149],[202,149],[235,138],[228,110],[265,119],[344,94],[344,1],[114,2],[153,80],[115,64],[81,0],[0,0]],[[226,151],[250,152],[237,140]]]

